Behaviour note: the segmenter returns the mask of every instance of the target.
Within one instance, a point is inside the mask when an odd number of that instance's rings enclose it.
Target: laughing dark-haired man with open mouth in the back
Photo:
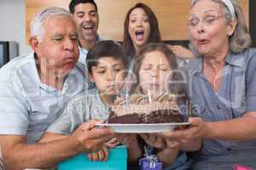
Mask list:
[[[79,33],[79,61],[85,65],[88,50],[97,41],[102,41],[97,35],[99,14],[94,0],[72,0],[69,11],[73,14],[77,31]]]

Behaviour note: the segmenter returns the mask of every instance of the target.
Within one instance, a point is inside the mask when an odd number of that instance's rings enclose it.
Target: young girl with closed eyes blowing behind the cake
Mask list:
[[[179,96],[178,104],[184,104],[186,94],[181,72],[177,70],[177,60],[172,51],[164,43],[148,43],[137,53],[134,74],[137,76],[137,83],[131,93],[163,94],[172,93]],[[166,140],[156,134],[120,135],[119,140],[127,144],[130,161],[137,161],[143,156],[144,140],[146,145],[154,148],[154,153],[163,163],[165,169],[183,170],[189,169],[189,161],[184,152],[179,151],[178,146],[166,147]],[[136,150],[136,151],[135,151]]]

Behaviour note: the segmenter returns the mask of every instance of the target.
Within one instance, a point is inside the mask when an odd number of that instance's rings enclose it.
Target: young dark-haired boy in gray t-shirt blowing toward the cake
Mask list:
[[[66,138],[83,122],[91,119],[108,120],[109,105],[113,104],[124,86],[127,59],[119,44],[102,41],[90,49],[86,64],[90,81],[96,83],[96,88],[75,96],[55,122],[50,124],[40,142]],[[88,154],[89,159],[106,161],[108,147],[116,144],[119,144],[116,139],[110,140],[102,150]]]

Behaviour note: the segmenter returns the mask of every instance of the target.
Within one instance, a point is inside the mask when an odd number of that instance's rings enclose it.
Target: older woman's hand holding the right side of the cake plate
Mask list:
[[[177,128],[174,131],[162,133],[166,139],[167,146],[168,141],[177,141],[180,144],[189,143],[192,139],[201,139],[207,136],[209,133],[209,127],[200,117],[190,117],[190,125],[186,128]],[[169,146],[168,146],[169,147]]]

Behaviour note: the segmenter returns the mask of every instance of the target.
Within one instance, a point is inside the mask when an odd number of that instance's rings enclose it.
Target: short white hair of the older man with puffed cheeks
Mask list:
[[[72,14],[70,14],[66,9],[59,7],[49,7],[44,8],[40,13],[38,13],[35,18],[32,20],[30,24],[30,33],[31,37],[37,37],[38,41],[43,40],[44,36],[44,27],[42,26],[43,20],[49,17],[67,17],[72,18]]]

